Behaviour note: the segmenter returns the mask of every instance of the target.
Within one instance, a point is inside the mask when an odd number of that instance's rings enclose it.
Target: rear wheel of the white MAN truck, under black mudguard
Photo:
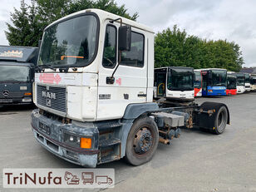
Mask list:
[[[221,106],[214,122],[214,134],[219,135],[224,132],[228,122],[228,116],[227,108]]]

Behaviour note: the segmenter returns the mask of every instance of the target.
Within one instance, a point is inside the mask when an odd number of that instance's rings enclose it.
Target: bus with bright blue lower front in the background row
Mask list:
[[[226,96],[227,70],[200,69],[203,79],[202,96]]]

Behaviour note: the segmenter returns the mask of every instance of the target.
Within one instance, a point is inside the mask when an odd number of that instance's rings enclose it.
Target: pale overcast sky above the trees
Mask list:
[[[0,44],[7,45],[4,31],[9,12],[19,0],[1,0]],[[26,2],[29,2],[27,0]],[[239,44],[244,66],[256,66],[255,0],[116,0],[129,13],[139,12],[137,21],[160,32],[175,24],[190,35],[207,39],[227,39]]]

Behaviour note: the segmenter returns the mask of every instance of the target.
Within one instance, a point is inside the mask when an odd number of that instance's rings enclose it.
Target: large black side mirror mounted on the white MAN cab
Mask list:
[[[118,29],[118,50],[119,51],[130,51],[131,45],[131,27],[121,26]]]

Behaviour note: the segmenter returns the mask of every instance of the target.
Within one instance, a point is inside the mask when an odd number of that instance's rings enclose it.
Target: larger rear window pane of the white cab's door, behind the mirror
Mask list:
[[[144,66],[144,35],[131,32],[130,52],[121,52],[120,64],[124,66]]]

